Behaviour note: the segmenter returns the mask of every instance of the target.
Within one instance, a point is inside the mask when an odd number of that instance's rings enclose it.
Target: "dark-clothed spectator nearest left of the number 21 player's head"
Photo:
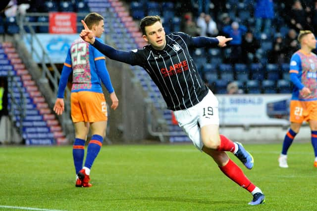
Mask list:
[[[269,63],[284,63],[285,62],[285,52],[284,52],[284,42],[282,40],[282,35],[277,33],[273,42],[273,48],[268,55]]]

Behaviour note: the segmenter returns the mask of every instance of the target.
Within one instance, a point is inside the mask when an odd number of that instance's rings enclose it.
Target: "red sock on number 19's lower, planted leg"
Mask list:
[[[246,175],[244,175],[243,171],[230,159],[225,166],[219,167],[219,169],[232,181],[248,190],[250,193],[256,188]]]

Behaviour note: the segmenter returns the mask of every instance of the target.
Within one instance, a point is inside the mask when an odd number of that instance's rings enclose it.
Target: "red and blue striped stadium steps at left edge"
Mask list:
[[[11,104],[11,95],[8,94],[8,108],[12,107],[16,127],[22,127],[21,134],[27,145],[52,145],[68,143],[62,128],[59,126],[55,115],[46,103],[35,81],[29,74],[18,53],[10,42],[0,43],[0,71],[9,73],[12,81],[12,97],[18,104]],[[4,74],[3,74],[4,75]],[[23,93],[23,98],[21,96]],[[25,104],[22,104],[22,100]],[[24,105],[25,116],[21,119],[20,105]],[[21,125],[22,124],[22,125]]]

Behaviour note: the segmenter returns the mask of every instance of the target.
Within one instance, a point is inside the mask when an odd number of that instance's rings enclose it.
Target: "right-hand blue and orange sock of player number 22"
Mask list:
[[[85,167],[87,167],[88,169],[91,169],[101,147],[103,146],[103,141],[104,138],[101,135],[95,134],[91,137],[87,148],[87,156],[85,162]]]

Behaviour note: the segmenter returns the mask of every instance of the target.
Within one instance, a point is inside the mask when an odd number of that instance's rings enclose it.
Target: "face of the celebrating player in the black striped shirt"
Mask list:
[[[143,39],[149,42],[152,47],[157,50],[162,50],[165,47],[165,31],[162,24],[157,21],[151,26],[145,27],[146,35],[143,35]]]

